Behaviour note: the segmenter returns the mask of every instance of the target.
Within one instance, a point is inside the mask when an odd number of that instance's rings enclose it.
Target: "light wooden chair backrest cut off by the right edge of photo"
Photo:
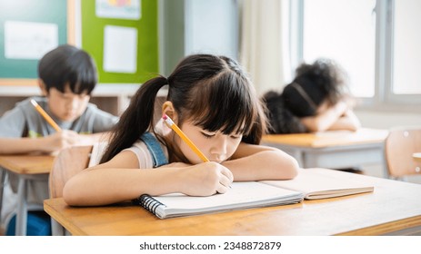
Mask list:
[[[421,174],[421,162],[412,155],[421,152],[421,127],[392,129],[386,138],[385,155],[389,177],[405,179]]]

